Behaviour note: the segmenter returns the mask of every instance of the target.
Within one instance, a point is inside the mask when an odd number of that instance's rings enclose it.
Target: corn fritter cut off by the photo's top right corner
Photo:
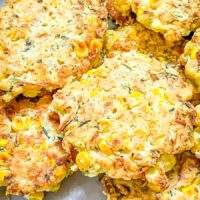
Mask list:
[[[177,41],[200,26],[199,0],[132,0],[132,10],[145,27]]]

